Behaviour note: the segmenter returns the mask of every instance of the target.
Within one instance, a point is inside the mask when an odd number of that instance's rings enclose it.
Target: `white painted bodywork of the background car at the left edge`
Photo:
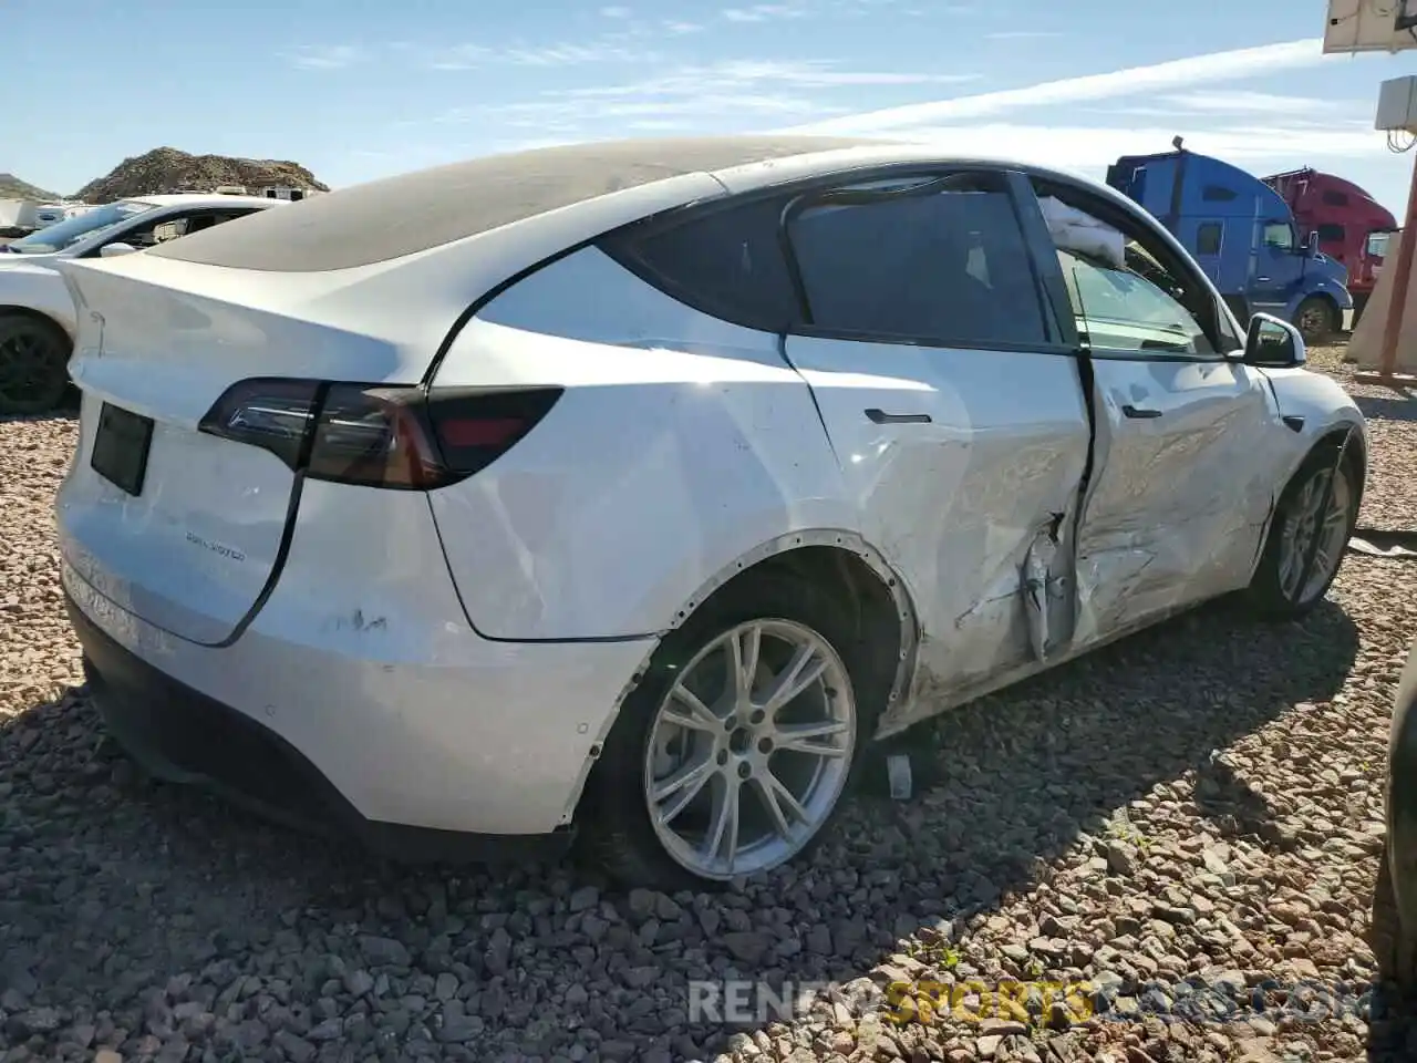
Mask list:
[[[75,241],[69,247],[58,251],[44,251],[34,254],[4,252],[0,254],[0,313],[7,310],[27,310],[43,315],[58,325],[72,340],[78,334],[78,322],[74,315],[74,300],[64,285],[64,278],[54,269],[54,262],[65,258],[84,258],[98,254],[105,244],[120,242],[125,232],[132,232],[152,224],[159,224],[167,217],[183,214],[188,210],[205,207],[254,207],[266,210],[283,200],[264,200],[256,196],[135,196],[125,203],[149,203],[152,210],[135,214],[126,221],[105,228]],[[30,235],[43,235],[44,230]]]

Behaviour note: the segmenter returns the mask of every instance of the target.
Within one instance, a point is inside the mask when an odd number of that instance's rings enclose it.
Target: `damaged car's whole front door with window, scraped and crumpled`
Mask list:
[[[1238,337],[1187,309],[1212,299],[1199,278],[1153,235],[1125,235],[1125,266],[1057,255],[1097,414],[1078,648],[1243,587],[1292,445],[1263,374],[1226,356]]]

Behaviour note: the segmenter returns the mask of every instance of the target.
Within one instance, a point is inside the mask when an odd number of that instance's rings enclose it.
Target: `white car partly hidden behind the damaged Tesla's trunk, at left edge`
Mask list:
[[[275,203],[256,196],[143,196],[0,245],[0,415],[51,410],[68,387],[77,326],[55,261],[142,251]]]

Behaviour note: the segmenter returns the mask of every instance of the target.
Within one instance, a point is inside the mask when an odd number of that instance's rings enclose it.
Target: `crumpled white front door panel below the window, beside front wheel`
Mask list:
[[[1244,587],[1294,434],[1237,361],[1094,357],[1077,645]]]

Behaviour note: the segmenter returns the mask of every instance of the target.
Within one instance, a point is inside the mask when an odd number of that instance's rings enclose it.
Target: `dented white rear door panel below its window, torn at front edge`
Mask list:
[[[1090,425],[1077,363],[789,336],[862,526],[917,605],[914,692],[883,726],[937,712],[931,690],[1047,653],[1073,622],[1071,551]],[[928,420],[925,420],[928,418]]]

